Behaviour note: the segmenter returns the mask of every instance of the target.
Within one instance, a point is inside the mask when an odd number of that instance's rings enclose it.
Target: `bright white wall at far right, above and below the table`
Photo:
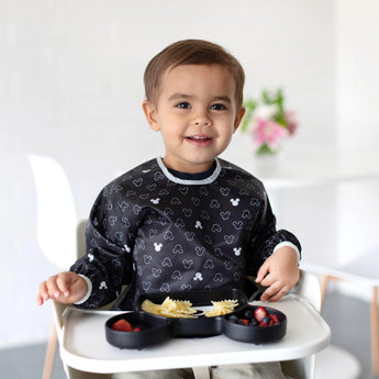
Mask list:
[[[336,1],[338,144],[378,148],[379,2]],[[345,263],[379,246],[379,179],[337,189],[337,252]]]

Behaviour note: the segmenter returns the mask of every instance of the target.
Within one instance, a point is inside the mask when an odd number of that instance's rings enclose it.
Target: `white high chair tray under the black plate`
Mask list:
[[[246,344],[215,335],[170,338],[142,350],[121,349],[105,339],[104,323],[124,312],[68,308],[63,322],[60,356],[76,369],[90,372],[157,370],[213,365],[289,360],[306,357],[327,346],[331,331],[304,298],[288,294],[278,302],[252,303],[278,309],[287,315],[287,333],[279,342]]]

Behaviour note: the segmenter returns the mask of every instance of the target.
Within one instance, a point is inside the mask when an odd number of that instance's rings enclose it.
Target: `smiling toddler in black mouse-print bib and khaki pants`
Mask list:
[[[54,299],[96,309],[115,300],[114,309],[133,310],[153,291],[237,288],[250,294],[248,276],[265,287],[261,300],[277,301],[297,283],[297,237],[276,230],[263,183],[219,157],[244,116],[244,79],[239,63],[205,41],[174,43],[151,60],[143,111],[160,132],[165,155],[104,187],[88,221],[87,255],[41,283],[40,305]],[[267,378],[267,369],[280,378],[275,365],[218,367],[211,375]],[[159,375],[190,372],[112,377]]]

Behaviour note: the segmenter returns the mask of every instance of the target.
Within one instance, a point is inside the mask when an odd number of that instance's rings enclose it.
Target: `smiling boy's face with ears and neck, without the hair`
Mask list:
[[[165,165],[190,174],[212,166],[245,112],[237,109],[232,75],[220,65],[168,68],[157,99],[144,101],[143,109],[151,127],[163,135]]]

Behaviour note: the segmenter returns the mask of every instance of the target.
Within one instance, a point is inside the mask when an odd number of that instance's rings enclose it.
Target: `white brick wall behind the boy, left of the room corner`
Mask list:
[[[211,40],[235,54],[246,69],[246,96],[283,87],[301,124],[291,144],[335,143],[333,1],[2,0],[0,346],[43,339],[51,322],[49,306],[37,308],[35,294],[40,281],[58,268],[37,244],[29,155],[63,166],[77,218],[86,218],[103,185],[163,152],[142,115],[142,75],[154,54],[186,37]],[[250,159],[245,138],[236,135],[230,156],[246,146]],[[323,191],[327,208],[335,189]],[[292,200],[306,202],[308,196]],[[315,220],[310,223],[316,226]],[[311,245],[302,220],[286,222]],[[26,327],[12,327],[25,321]]]

